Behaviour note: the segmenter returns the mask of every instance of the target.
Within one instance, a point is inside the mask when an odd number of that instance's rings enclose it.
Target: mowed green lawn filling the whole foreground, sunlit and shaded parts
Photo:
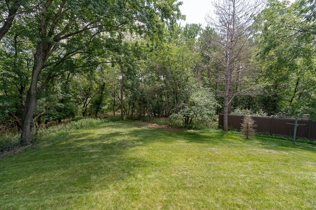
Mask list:
[[[316,209],[316,148],[128,122],[0,159],[0,209]]]

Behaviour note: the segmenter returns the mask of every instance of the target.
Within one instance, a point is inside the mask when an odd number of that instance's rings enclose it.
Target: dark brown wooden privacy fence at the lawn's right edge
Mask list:
[[[218,126],[223,127],[223,114],[219,114]],[[228,115],[228,127],[240,130],[240,123],[243,116]],[[271,136],[293,137],[294,122],[292,118],[273,118],[273,117],[252,117],[257,125],[256,130],[259,134]],[[316,140],[316,121],[299,119],[296,131],[296,139]]]

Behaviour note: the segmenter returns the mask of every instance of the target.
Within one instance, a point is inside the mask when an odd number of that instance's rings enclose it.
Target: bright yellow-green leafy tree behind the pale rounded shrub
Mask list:
[[[200,60],[196,42],[200,26],[187,25],[180,28],[168,25],[165,42],[150,54],[148,71],[144,74],[148,93],[154,93],[148,99],[153,99],[153,112],[169,117],[177,113],[187,98],[188,90],[194,82],[194,70]],[[152,81],[155,79],[156,81]],[[154,87],[155,86],[155,87]],[[151,90],[149,90],[151,89]],[[154,91],[155,90],[155,91]],[[146,99],[145,102],[148,100]],[[148,107],[146,103],[146,107]]]

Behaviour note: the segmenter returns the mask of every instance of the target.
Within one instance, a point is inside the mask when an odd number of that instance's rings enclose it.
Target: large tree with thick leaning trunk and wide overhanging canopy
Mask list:
[[[174,2],[46,0],[34,12],[34,17],[25,17],[25,23],[29,27],[35,24],[39,31],[26,29],[36,48],[22,117],[22,142],[31,142],[32,121],[39,94],[52,78],[67,70],[63,66],[65,63],[71,63],[77,54],[84,54],[94,38],[102,34],[108,37],[117,37],[120,32],[126,31],[161,34],[164,21],[175,21],[181,17],[178,9],[181,3]]]

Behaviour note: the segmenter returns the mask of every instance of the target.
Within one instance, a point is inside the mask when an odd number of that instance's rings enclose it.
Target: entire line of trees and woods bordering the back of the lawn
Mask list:
[[[0,3],[0,126],[21,143],[76,115],[316,118],[313,0],[216,1],[205,28],[176,0]]]

